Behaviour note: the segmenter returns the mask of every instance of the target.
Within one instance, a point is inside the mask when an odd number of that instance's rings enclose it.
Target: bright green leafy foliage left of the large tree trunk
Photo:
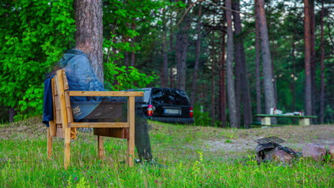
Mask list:
[[[41,113],[44,74],[74,41],[72,3],[5,1],[0,6],[0,105]],[[34,110],[32,110],[34,109]]]

